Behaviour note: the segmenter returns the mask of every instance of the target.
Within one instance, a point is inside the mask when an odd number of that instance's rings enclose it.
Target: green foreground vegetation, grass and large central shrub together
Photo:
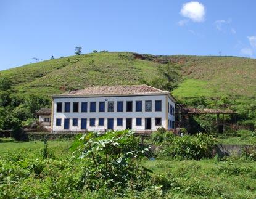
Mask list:
[[[165,136],[165,140],[170,137]],[[205,143],[205,138],[197,145]],[[130,131],[108,132],[104,136],[88,134],[75,142],[6,140],[0,144],[0,156],[1,198],[255,198],[256,195],[256,167],[250,157],[180,161],[171,156],[157,156],[155,159]]]

